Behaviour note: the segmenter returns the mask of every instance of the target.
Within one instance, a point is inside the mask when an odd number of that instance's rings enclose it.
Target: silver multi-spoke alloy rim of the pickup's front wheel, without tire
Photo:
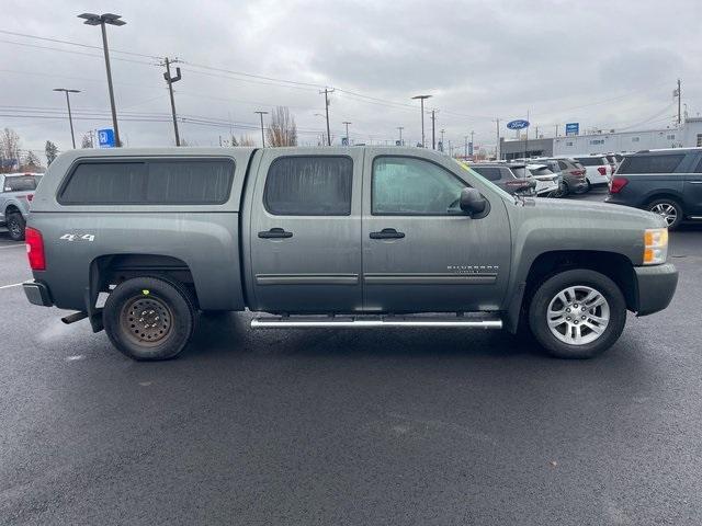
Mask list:
[[[610,322],[610,305],[592,287],[576,285],[561,290],[548,304],[546,322],[564,343],[585,345],[602,335]]]

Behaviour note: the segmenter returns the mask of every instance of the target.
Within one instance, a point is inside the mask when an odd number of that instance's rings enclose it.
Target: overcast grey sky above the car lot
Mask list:
[[[528,111],[532,136],[535,126],[553,136],[556,124],[563,135],[567,122],[581,129],[670,125],[678,77],[690,115],[702,112],[700,0],[3,0],[0,30],[100,46],[99,28],[76,18],[84,11],[127,22],[110,26],[109,41],[128,146],[173,144],[163,68],[140,55],[184,61],[176,103],[190,119],[182,137],[199,146],[217,145],[230,129],[260,140],[253,112],[275,105],[290,107],[302,144],[316,144],[325,85],[337,88],[332,136],[350,121],[358,142],[395,140],[398,126],[417,142],[416,94],[433,95],[427,110],[438,110],[437,135],[445,129],[454,145],[471,130],[476,145],[494,145],[494,119],[509,137],[503,124]],[[99,48],[0,33],[0,127],[14,128],[23,148],[43,151],[47,139],[70,147],[65,99],[53,88],[82,91],[72,99],[78,141],[111,126]],[[430,140],[429,118],[426,129]]]

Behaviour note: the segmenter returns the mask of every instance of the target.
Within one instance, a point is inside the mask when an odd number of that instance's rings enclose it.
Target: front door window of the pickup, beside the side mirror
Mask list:
[[[461,214],[467,185],[449,170],[423,159],[378,157],[373,161],[373,215],[444,216]]]

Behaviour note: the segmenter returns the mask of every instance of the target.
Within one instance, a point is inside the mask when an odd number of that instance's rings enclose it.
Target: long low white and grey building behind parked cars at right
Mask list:
[[[573,128],[571,128],[573,129]],[[633,152],[658,148],[702,147],[702,117],[689,117],[680,126],[641,132],[614,132],[520,140],[500,137],[500,158],[584,156]]]

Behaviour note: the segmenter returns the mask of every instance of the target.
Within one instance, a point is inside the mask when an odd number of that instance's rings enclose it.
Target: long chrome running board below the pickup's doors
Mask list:
[[[252,329],[288,329],[288,328],[342,328],[342,329],[377,329],[381,327],[435,327],[435,328],[472,328],[501,329],[502,320],[496,317],[452,316],[452,317],[421,317],[421,316],[381,316],[381,317],[349,317],[349,316],[263,316],[251,320]]]

